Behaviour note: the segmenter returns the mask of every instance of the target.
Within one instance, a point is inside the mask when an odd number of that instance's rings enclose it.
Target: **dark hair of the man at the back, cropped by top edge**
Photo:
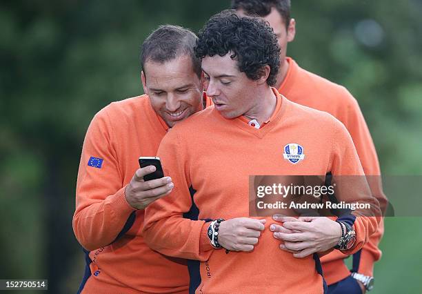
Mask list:
[[[252,16],[266,17],[273,7],[283,18],[287,29],[290,23],[290,0],[232,0],[232,9],[244,10]]]

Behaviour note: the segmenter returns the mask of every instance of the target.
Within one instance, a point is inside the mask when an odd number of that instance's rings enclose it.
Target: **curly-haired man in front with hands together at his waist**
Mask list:
[[[161,141],[158,156],[174,190],[146,208],[145,242],[164,255],[192,259],[190,293],[323,293],[316,252],[340,244],[345,231],[356,242],[341,250],[359,250],[376,220],[349,215],[297,222],[295,229],[312,228],[322,241],[296,259],[279,250],[270,217],[249,217],[249,176],[363,175],[350,135],[331,115],[294,104],[271,87],[279,46],[264,21],[216,14],[199,32],[195,51],[215,106]],[[288,146],[297,161],[283,157]],[[356,192],[344,200],[376,205],[367,186]]]

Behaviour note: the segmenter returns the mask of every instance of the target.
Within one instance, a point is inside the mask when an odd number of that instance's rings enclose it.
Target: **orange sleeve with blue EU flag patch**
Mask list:
[[[135,210],[125,199],[106,111],[98,112],[88,127],[77,179],[73,230],[89,251],[112,243]]]

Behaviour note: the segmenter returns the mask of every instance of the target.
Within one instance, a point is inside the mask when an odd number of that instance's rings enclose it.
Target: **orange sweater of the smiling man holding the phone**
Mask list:
[[[132,208],[124,195],[139,156],[155,156],[167,130],[145,95],[114,102],[92,119],[73,217],[74,233],[90,251],[83,293],[187,292],[185,261],[148,248],[141,234],[143,210]]]

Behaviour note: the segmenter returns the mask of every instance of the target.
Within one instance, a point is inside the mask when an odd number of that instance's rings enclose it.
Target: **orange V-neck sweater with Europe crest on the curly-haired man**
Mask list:
[[[208,223],[182,217],[192,204],[199,210],[198,219],[248,217],[249,175],[363,175],[343,124],[277,95],[281,108],[260,129],[241,118],[224,119],[211,106],[175,126],[161,142],[158,155],[174,190],[146,208],[144,238],[165,255],[201,261],[197,293],[323,292],[319,259],[297,259],[281,251],[268,229],[271,219],[254,251],[226,254],[212,249]],[[290,143],[303,147],[305,159],[299,164],[283,159],[283,146]],[[376,200],[363,195],[358,192],[347,201],[376,206]],[[345,200],[341,195],[339,199]],[[357,243],[350,253],[359,250],[376,227],[376,219],[356,217]]]

